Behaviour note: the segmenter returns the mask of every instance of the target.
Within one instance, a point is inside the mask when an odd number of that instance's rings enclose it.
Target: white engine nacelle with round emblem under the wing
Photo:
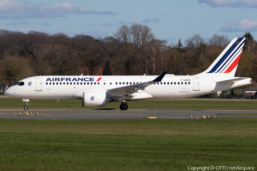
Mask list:
[[[111,102],[111,98],[107,98],[106,96],[106,93],[99,91],[84,91],[82,105],[85,107],[105,106],[106,103]]]

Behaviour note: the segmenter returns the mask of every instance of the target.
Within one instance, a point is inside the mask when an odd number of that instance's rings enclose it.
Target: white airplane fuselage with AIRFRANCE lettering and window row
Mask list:
[[[155,78],[156,76],[35,76],[19,81],[24,82],[24,85],[11,86],[5,94],[20,99],[83,99],[84,91],[108,94],[108,89],[148,82]],[[166,75],[161,82],[140,90],[150,96],[128,98],[127,101],[194,97],[251,83],[251,78],[228,84],[217,83],[234,78],[237,77]]]

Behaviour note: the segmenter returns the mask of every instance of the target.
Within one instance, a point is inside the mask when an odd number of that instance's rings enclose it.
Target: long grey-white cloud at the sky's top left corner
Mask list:
[[[73,7],[67,1],[62,3],[32,4],[26,1],[0,0],[0,19],[66,17],[65,14],[113,15],[112,11],[97,12],[83,5]]]

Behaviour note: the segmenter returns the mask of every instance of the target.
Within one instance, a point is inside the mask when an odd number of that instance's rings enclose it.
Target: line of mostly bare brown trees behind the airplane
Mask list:
[[[246,32],[236,75],[256,80],[257,42]],[[205,40],[199,34],[184,42],[169,44],[156,39],[147,25],[121,25],[113,36],[94,38],[62,32],[27,33],[0,29],[0,84],[44,75],[194,75],[206,70],[230,43],[228,36],[214,34]]]

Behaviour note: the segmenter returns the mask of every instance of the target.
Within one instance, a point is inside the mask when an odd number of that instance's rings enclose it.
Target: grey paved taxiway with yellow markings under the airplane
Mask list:
[[[12,113],[14,112],[14,115]],[[18,113],[21,113],[18,116]],[[32,115],[24,115],[24,112]],[[38,113],[35,115],[35,113]],[[221,115],[222,114],[222,115]],[[228,115],[230,114],[230,115]],[[232,114],[232,115],[231,115]],[[244,114],[244,115],[242,115]],[[249,114],[249,115],[247,115]],[[252,115],[251,115],[252,114]],[[253,115],[256,114],[256,115]],[[201,115],[215,117],[257,117],[257,111],[202,111],[202,110],[89,110],[89,109],[0,109],[0,118],[5,119],[198,119]]]

